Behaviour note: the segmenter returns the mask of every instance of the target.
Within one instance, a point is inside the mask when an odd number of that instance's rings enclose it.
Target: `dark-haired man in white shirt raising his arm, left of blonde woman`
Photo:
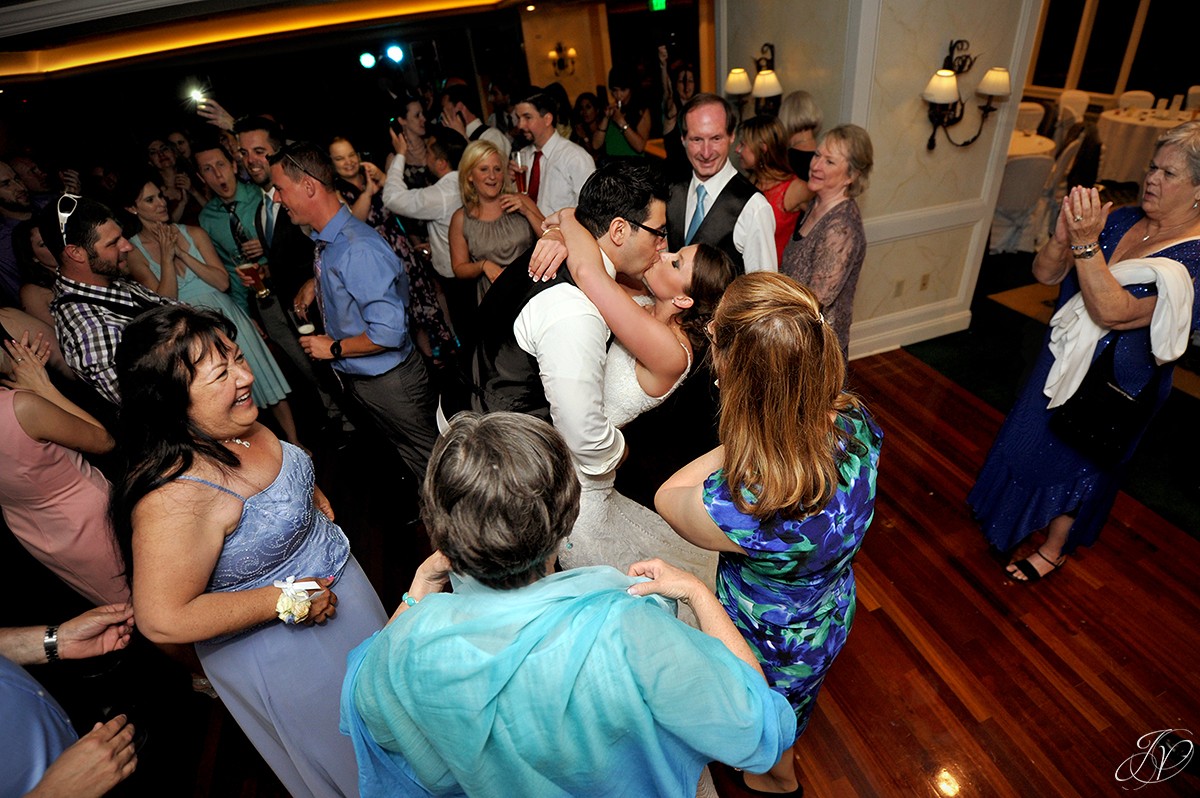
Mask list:
[[[450,266],[450,217],[462,208],[458,161],[462,158],[462,151],[467,149],[467,139],[448,128],[426,138],[427,166],[437,182],[425,188],[409,188],[404,182],[408,142],[403,134],[397,134],[391,128],[389,131],[396,157],[388,167],[383,204],[394,214],[428,223],[430,259],[433,262],[433,270],[448,280],[454,280],[454,269]]]

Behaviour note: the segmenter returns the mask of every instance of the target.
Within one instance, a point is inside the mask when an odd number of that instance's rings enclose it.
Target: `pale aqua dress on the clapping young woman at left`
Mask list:
[[[179,234],[187,241],[191,256],[197,260],[204,260],[199,248],[196,246],[196,241],[187,234],[187,228],[182,224],[176,224],[175,227],[179,228]],[[145,245],[142,242],[142,236],[134,235],[130,239],[130,242],[146,259],[154,276],[161,280],[162,266],[150,257]],[[246,311],[241,310],[233,296],[218,290],[216,286],[204,282],[199,275],[187,269],[179,277],[179,301],[187,302],[193,307],[206,307],[217,311],[238,328],[238,346],[241,347],[242,353],[246,355],[250,370],[254,372],[254,384],[250,386],[250,395],[254,400],[256,406],[260,408],[270,407],[287,398],[288,394],[292,392],[292,386],[288,385],[288,380],[283,378],[283,372],[280,371],[275,358],[271,356],[266,344],[263,343],[263,338],[258,335],[254,323],[250,320]]]

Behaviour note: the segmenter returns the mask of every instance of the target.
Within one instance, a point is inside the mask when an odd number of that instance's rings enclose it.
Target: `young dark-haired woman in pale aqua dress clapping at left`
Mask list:
[[[130,274],[139,283],[163,296],[170,296],[196,307],[209,307],[222,313],[238,328],[254,384],[251,395],[259,408],[270,408],[289,443],[300,444],[295,420],[287,395],[292,391],[275,358],[229,290],[229,272],[212,247],[212,240],[199,227],[168,221],[167,198],[157,175],[145,174],[118,187],[118,199],[133,214],[142,229],[130,239],[133,252],[128,256]],[[163,269],[163,264],[169,264]],[[246,265],[238,266],[239,271]],[[262,272],[254,288],[264,288]]]

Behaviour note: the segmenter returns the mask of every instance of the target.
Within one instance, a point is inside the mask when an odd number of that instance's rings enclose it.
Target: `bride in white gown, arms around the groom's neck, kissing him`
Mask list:
[[[552,276],[562,262],[575,284],[600,311],[616,341],[605,364],[604,408],[614,426],[624,426],[660,404],[703,356],[708,323],[733,281],[733,264],[707,244],[664,252],[642,276],[643,292],[626,289],[605,271],[595,236],[565,209],[557,218],[560,235],[538,242],[530,258],[534,280]],[[563,546],[563,568],[612,565],[624,570],[661,557],[714,587],[716,557],[683,540],[654,511],[613,490],[613,473],[586,480],[580,517]]]

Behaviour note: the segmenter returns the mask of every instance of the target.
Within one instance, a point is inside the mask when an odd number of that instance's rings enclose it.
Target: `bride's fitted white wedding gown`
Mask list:
[[[605,362],[604,398],[605,413],[618,427],[670,396],[691,371],[691,354],[688,368],[671,390],[659,397],[647,396],[642,390],[636,365],[629,349],[614,341]],[[689,544],[659,514],[614,491],[613,479],[613,472],[583,478],[580,517],[559,554],[563,568],[612,565],[624,572],[638,560],[660,557],[695,574],[715,590],[716,552]]]

